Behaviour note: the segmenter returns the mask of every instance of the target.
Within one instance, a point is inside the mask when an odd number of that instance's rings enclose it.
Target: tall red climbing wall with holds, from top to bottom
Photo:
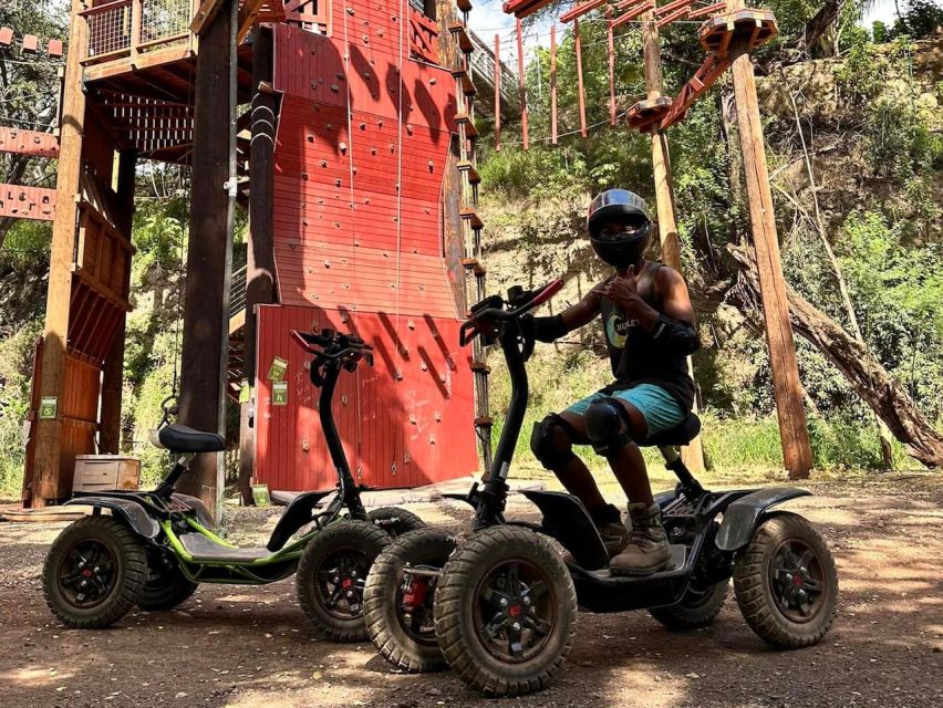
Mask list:
[[[376,347],[375,367],[345,375],[335,403],[365,483],[412,487],[477,468],[470,352],[458,350],[443,242],[454,81],[410,58],[415,14],[407,2],[353,0],[333,3],[330,37],[276,29],[282,304],[260,312],[256,396],[256,476],[273,489],[334,483],[292,327],[355,331]],[[289,362],[284,406],[267,376],[276,356]]]

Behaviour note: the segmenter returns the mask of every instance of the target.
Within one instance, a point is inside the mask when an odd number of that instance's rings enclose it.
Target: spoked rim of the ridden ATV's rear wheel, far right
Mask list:
[[[801,539],[783,541],[773,553],[769,589],[784,617],[796,624],[815,620],[826,595],[826,575],[816,550]]]

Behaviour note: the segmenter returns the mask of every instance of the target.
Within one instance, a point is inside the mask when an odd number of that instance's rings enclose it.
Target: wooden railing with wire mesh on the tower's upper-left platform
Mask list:
[[[82,11],[89,23],[85,64],[187,44],[195,0],[112,0]]]

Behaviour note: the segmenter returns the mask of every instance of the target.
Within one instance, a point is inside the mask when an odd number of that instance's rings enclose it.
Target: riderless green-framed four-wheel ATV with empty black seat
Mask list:
[[[214,532],[199,499],[175,491],[197,454],[219,452],[226,442],[215,433],[166,425],[165,406],[157,438],[178,458],[157,489],[80,492],[66,502],[91,507],[93,513],[62,531],[43,568],[46,603],[64,624],[105,627],[135,604],[175,607],[199,583],[258,585],[297,570],[299,602],[317,628],[336,641],[365,636],[361,597],[370,565],[390,537],[424,524],[404,509],[366,513],[361,502],[365,488],[354,482],[334,426],[332,402],[341,371],[353,372],[362,361],[372,364],[372,347],[331,330],[291,334],[313,355],[311,383],[321,389],[319,413],[336,488],[297,497],[265,548],[236,548]],[[330,494],[333,499],[319,511]]]

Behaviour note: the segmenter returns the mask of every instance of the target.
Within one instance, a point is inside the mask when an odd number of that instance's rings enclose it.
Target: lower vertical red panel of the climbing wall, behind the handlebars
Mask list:
[[[310,356],[290,339],[292,329],[350,331],[375,346],[374,365],[343,372],[334,396],[335,423],[357,481],[417,487],[475,469],[469,352],[458,347],[456,320],[262,306],[258,321],[256,476],[270,488],[322,489],[336,482],[319,418],[319,389],[305,368]],[[276,356],[288,362],[283,406],[273,404],[267,377]]]

